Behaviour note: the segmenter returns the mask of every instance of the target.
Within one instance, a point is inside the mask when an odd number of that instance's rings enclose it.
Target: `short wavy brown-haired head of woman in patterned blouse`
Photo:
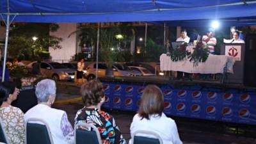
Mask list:
[[[89,81],[81,86],[80,93],[84,106],[95,106],[104,97],[103,85],[97,80]]]

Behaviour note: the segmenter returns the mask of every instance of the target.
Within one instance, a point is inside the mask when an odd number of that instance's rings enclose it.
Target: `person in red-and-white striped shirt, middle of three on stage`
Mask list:
[[[207,31],[207,35],[204,35],[202,40],[208,45],[210,53],[214,54],[214,46],[217,44],[217,40],[214,38],[214,31],[209,29],[209,31]]]

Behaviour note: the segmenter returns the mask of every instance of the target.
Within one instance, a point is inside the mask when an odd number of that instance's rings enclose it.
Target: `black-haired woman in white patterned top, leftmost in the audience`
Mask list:
[[[0,84],[0,120],[6,132],[6,139],[11,144],[25,143],[24,113],[16,107],[11,106],[13,100],[17,99],[19,89],[14,83],[4,82]]]

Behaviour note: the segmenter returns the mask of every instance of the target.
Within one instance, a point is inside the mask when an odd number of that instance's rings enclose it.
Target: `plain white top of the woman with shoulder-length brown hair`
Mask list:
[[[137,113],[133,117],[130,130],[131,136],[138,130],[154,131],[162,138],[163,144],[182,144],[175,121],[172,118],[168,118],[164,113],[162,113],[161,117],[152,115],[150,116],[150,120],[147,120],[146,118],[141,120],[140,115]],[[154,136],[148,134],[138,135],[154,138]]]

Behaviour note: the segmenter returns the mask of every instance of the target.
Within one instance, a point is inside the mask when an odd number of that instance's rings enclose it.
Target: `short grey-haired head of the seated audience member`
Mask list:
[[[44,79],[36,84],[38,102],[47,102],[50,95],[56,95],[56,83],[52,79]]]

